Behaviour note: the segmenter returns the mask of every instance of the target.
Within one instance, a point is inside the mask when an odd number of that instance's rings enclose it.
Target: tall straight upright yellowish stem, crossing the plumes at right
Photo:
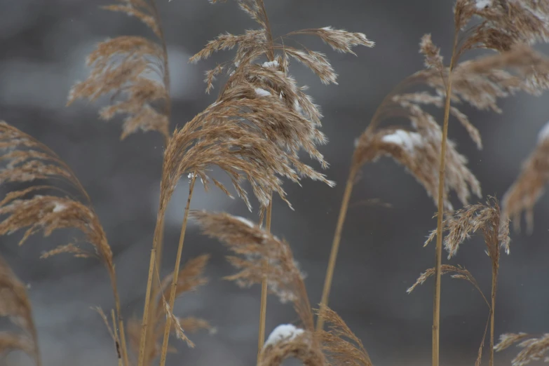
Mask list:
[[[440,267],[442,265],[442,219],[444,218],[445,174],[446,174],[446,145],[448,137],[448,121],[450,116],[450,102],[452,100],[452,71],[456,61],[456,47],[458,30],[454,32],[452,59],[448,69],[448,83],[446,103],[444,109],[444,126],[442,128],[442,143],[440,147],[440,168],[438,169],[438,219],[437,219],[437,246],[435,255],[435,296],[433,298],[433,366],[438,366],[440,346]]]

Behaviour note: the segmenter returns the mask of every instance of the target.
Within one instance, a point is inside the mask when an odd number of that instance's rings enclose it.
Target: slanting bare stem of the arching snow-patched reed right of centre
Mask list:
[[[343,201],[341,201],[341,208],[339,209],[339,217],[337,219],[336,232],[334,235],[334,241],[332,242],[332,252],[330,252],[330,261],[328,262],[328,269],[326,271],[326,278],[324,280],[324,290],[322,292],[322,300],[320,301],[320,313],[328,304],[328,297],[330,297],[330,287],[332,287],[332,278],[334,277],[334,269],[337,259],[337,252],[339,250],[339,243],[341,241],[341,232],[343,231],[343,224],[345,222],[345,216],[347,215],[347,209],[349,200],[351,199],[351,193],[353,192],[353,185],[355,183],[355,176],[358,172],[358,168],[353,163],[351,172],[347,178],[347,185],[343,194]],[[324,327],[324,319],[320,316],[316,321],[317,332]]]

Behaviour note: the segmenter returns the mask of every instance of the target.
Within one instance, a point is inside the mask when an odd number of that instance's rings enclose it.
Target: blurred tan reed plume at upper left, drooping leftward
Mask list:
[[[100,111],[108,121],[116,114],[126,114],[121,138],[137,130],[156,130],[166,142],[170,125],[170,71],[168,52],[155,0],[118,0],[104,6],[139,19],[156,36],[152,41],[142,36],[118,36],[97,45],[86,61],[92,67],[86,81],[76,83],[67,104],[76,99],[97,100],[111,95],[116,100]]]

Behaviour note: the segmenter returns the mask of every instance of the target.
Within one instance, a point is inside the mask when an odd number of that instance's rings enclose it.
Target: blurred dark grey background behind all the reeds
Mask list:
[[[88,190],[109,238],[120,281],[123,313],[140,317],[158,207],[163,141],[157,133],[137,133],[119,141],[121,118],[106,123],[97,110],[108,100],[76,102],[65,107],[69,88],[88,75],[86,55],[99,41],[126,34],[149,35],[135,18],[99,8],[108,1],[0,0],[0,119],[48,144],[76,172]],[[358,48],[358,57],[334,53],[317,39],[302,41],[327,53],[339,73],[338,86],[323,86],[311,72],[292,65],[291,72],[323,109],[323,131],[330,143],[321,147],[338,184],[330,189],[304,181],[285,184],[292,211],[274,202],[273,232],[288,240],[307,273],[311,303],[320,301],[330,245],[348,174],[353,141],[393,86],[423,67],[420,37],[447,55],[452,41],[453,1],[431,0],[266,0],[273,34],[325,27],[364,32],[377,43]],[[170,55],[173,118],[182,126],[215,100],[204,93],[203,72],[232,53],[191,65],[188,58],[222,32],[238,34],[255,28],[233,1],[212,5],[205,0],[158,0]],[[543,48],[542,48],[543,49]],[[545,48],[545,51],[548,51]],[[219,90],[217,85],[216,90]],[[461,126],[449,136],[469,158],[483,194],[503,196],[549,119],[549,97],[517,95],[503,100],[503,114],[464,108],[480,129],[484,149],[477,151]],[[440,116],[440,114],[439,114]],[[170,205],[165,233],[165,265],[169,273],[179,236],[188,182],[183,179]],[[391,208],[360,205],[379,198]],[[434,246],[423,241],[436,226],[435,205],[405,170],[388,158],[362,169],[344,227],[330,306],[362,339],[375,365],[428,365],[431,362],[433,281],[414,293],[406,289],[434,264]],[[355,204],[353,204],[355,203]],[[257,204],[255,205],[257,208]],[[242,201],[212,189],[197,189],[191,208],[227,211],[256,220]],[[533,235],[513,233],[511,254],[501,259],[496,304],[496,334],[549,331],[549,196],[536,205]],[[102,366],[116,363],[109,334],[90,306],[111,309],[107,272],[92,259],[60,256],[41,260],[43,250],[65,244],[73,233],[39,236],[18,247],[20,236],[0,238],[0,253],[29,285],[44,365]],[[217,327],[200,332],[196,348],[177,341],[170,365],[253,365],[257,347],[259,286],[241,290],[222,276],[233,273],[226,250],[191,225],[184,261],[211,253],[206,274],[210,283],[184,295],[175,306],[180,316],[197,316]],[[446,261],[447,262],[447,261]],[[468,241],[452,264],[466,266],[489,292],[491,267],[481,238]],[[488,309],[480,294],[464,281],[442,280],[441,364],[473,365]],[[290,305],[269,299],[267,332],[297,320]],[[486,351],[486,350],[485,350]],[[516,348],[497,353],[509,363]],[[485,359],[487,362],[487,358]],[[0,365],[29,365],[13,353]]]

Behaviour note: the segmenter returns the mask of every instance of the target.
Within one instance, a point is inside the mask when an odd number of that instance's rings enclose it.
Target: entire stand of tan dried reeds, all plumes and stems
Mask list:
[[[213,0],[212,3],[217,1]],[[501,351],[518,343],[522,351],[513,365],[522,366],[541,360],[549,349],[547,335],[504,334],[494,347],[496,288],[501,248],[509,250],[508,217],[520,224],[527,212],[528,229],[533,228],[532,210],[549,180],[547,130],[524,163],[522,173],[503,198],[500,212],[496,198],[485,204],[469,205],[471,196],[482,197],[480,182],[448,140],[450,117],[465,128],[476,146],[482,137],[473,121],[463,113],[463,104],[475,109],[501,113],[499,101],[515,93],[540,95],[549,87],[549,58],[531,45],[549,41],[549,5],[538,0],[457,0],[454,4],[454,42],[448,64],[430,34],[421,38],[420,53],[425,68],[391,90],[381,102],[370,124],[355,142],[355,151],[341,203],[332,252],[318,310],[311,307],[304,276],[294,259],[290,245],[270,233],[273,195],[290,206],[283,182],[318,180],[330,186],[334,182],[304,163],[299,154],[309,155],[320,168],[327,168],[319,146],[327,142],[320,131],[320,107],[290,75],[290,61],[310,69],[325,84],[337,83],[337,74],[326,55],[310,50],[296,36],[315,36],[333,50],[354,54],[355,46],[372,47],[362,33],[332,27],[303,29],[273,36],[263,0],[236,0],[238,6],[257,22],[257,29],[243,34],[221,34],[191,57],[198,62],[220,50],[234,50],[228,61],[205,72],[206,92],[215,88],[215,79],[226,73],[215,101],[191,121],[170,132],[171,99],[168,53],[155,0],[118,0],[105,6],[123,12],[144,23],[151,37],[119,36],[97,45],[88,57],[90,76],[76,83],[69,93],[69,104],[76,99],[97,100],[111,97],[111,104],[100,111],[103,119],[126,115],[122,138],[137,130],[156,130],[163,135],[165,150],[161,191],[149,263],[143,318],[123,322],[118,295],[114,256],[90,198],[69,166],[45,145],[22,131],[0,123],[0,149],[3,152],[0,182],[13,190],[0,201],[0,235],[24,231],[20,244],[42,232],[49,236],[59,229],[81,233],[74,242],[44,252],[42,257],[69,253],[75,257],[95,257],[107,268],[115,306],[104,313],[97,309],[114,341],[118,365],[130,366],[128,343],[137,352],[137,365],[149,366],[159,358],[165,365],[170,334],[194,343],[187,334],[215,328],[207,320],[180,318],[173,313],[175,300],[184,293],[207,283],[203,276],[208,255],[191,259],[180,266],[187,220],[195,219],[203,232],[218,238],[233,255],[229,262],[238,270],[227,276],[241,286],[262,284],[259,355],[257,365],[280,365],[297,358],[304,365],[372,365],[358,337],[334,311],[327,307],[337,252],[351,200],[353,184],[360,170],[381,157],[400,163],[426,190],[438,207],[438,227],[427,242],[436,238],[435,266],[428,269],[409,288],[409,292],[427,278],[435,278],[433,307],[433,366],[439,363],[440,276],[468,280],[482,295],[489,308],[489,320],[477,353],[480,365],[485,338],[490,328],[490,365],[494,349]],[[477,59],[462,60],[468,51],[492,50]],[[435,108],[433,108],[435,107]],[[433,114],[439,109],[442,116]],[[464,110],[464,109],[463,109]],[[442,122],[439,123],[439,120]],[[231,180],[225,187],[210,175],[220,168]],[[175,267],[161,279],[161,256],[166,208],[177,184],[189,177],[189,195],[184,210]],[[53,184],[55,182],[55,184]],[[226,195],[240,197],[252,211],[252,200],[245,191],[249,184],[259,202],[259,224],[227,213],[213,214],[190,210],[197,183],[208,189],[212,184]],[[233,193],[234,192],[234,193]],[[456,200],[452,196],[456,196]],[[461,209],[454,208],[459,201]],[[266,213],[266,229],[262,229]],[[442,246],[454,257],[471,234],[482,231],[492,266],[492,294],[487,299],[473,275],[461,266],[442,264]],[[280,301],[292,302],[299,316],[299,327],[280,325],[264,341],[267,292]],[[18,329],[0,334],[0,351],[20,350],[40,365],[36,329],[25,286],[8,264],[0,259],[0,315],[8,317]],[[324,323],[330,324],[323,330]],[[162,341],[161,341],[162,339]]]

